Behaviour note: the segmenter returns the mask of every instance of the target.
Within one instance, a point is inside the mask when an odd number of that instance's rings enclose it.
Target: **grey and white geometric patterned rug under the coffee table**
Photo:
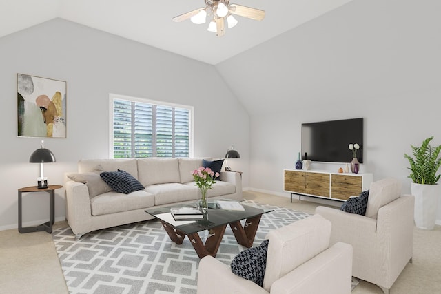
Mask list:
[[[250,200],[243,204],[274,209],[263,214],[253,246],[269,231],[309,216]],[[203,242],[207,233],[199,233]],[[70,293],[196,293],[196,251],[188,238],[172,242],[158,220],[94,231],[79,241],[70,228],[54,229],[52,238]],[[227,226],[216,259],[229,265],[244,249]]]

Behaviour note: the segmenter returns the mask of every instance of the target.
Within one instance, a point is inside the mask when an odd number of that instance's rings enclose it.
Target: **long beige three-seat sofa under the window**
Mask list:
[[[207,159],[207,158],[205,158]],[[153,217],[145,209],[188,202],[201,192],[191,171],[203,158],[89,159],[78,162],[78,172],[65,174],[66,218],[76,240],[85,233]],[[129,194],[111,191],[101,180],[101,171],[127,171],[145,189]],[[209,198],[242,200],[240,174],[221,172],[208,191]]]

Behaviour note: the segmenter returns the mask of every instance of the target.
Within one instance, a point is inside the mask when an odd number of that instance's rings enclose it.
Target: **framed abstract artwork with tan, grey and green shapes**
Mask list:
[[[17,74],[17,136],[66,138],[66,82]]]

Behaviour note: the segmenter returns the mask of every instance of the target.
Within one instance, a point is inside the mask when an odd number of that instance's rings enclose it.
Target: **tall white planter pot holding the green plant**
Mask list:
[[[414,217],[416,227],[428,230],[435,227],[440,187],[440,185],[411,183],[411,192],[415,196]]]

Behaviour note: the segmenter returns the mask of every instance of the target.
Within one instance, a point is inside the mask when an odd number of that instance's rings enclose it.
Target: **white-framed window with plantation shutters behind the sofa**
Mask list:
[[[110,94],[110,157],[190,157],[192,110]]]

